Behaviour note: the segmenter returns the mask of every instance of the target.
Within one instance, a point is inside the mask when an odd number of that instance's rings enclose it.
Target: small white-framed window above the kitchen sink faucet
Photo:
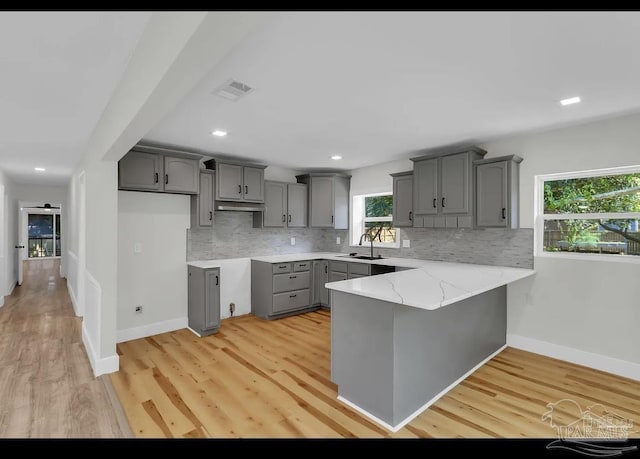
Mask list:
[[[400,230],[393,227],[393,195],[364,194],[353,197],[351,244],[400,247]],[[366,233],[365,236],[363,236]]]

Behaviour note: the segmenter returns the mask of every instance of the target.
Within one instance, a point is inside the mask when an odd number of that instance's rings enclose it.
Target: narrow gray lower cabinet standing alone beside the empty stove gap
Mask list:
[[[220,268],[188,267],[189,328],[200,336],[220,328]]]

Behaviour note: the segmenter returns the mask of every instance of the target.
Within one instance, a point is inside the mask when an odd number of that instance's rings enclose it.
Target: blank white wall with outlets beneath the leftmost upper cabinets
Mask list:
[[[118,342],[186,325],[189,212],[189,196],[118,192]]]

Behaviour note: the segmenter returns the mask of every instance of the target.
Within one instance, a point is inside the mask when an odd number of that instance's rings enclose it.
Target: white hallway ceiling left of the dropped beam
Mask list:
[[[150,15],[0,12],[0,168],[66,183]]]

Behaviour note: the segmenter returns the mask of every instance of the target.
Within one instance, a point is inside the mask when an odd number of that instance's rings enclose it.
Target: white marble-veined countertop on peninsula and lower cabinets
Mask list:
[[[325,285],[331,290],[421,309],[438,309],[535,274],[533,269],[504,266],[448,263],[414,258],[362,260],[344,255],[346,254],[311,252],[251,257],[251,259],[266,263],[322,259],[415,268],[372,277],[328,282]],[[199,268],[220,266],[216,260],[192,261],[188,264]]]

